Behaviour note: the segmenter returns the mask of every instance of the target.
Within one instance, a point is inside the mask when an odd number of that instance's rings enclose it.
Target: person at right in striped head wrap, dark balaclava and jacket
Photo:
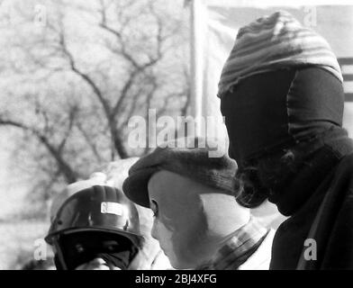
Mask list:
[[[238,201],[268,199],[288,220],[272,269],[353,269],[353,143],[330,45],[291,14],[242,27],[219,83],[239,166]]]

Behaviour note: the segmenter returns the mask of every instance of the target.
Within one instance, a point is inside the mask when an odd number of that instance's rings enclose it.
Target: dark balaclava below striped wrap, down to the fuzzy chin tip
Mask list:
[[[256,207],[284,190],[304,160],[321,148],[318,139],[333,130],[344,132],[343,95],[339,80],[320,67],[250,76],[224,95],[230,156],[244,184],[241,204]]]

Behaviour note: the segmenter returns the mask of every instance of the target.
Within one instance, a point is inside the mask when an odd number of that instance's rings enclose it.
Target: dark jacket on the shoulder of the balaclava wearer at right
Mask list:
[[[347,137],[325,144],[274,201],[291,217],[276,231],[270,269],[353,269],[352,153]],[[315,246],[316,260],[305,259]]]

